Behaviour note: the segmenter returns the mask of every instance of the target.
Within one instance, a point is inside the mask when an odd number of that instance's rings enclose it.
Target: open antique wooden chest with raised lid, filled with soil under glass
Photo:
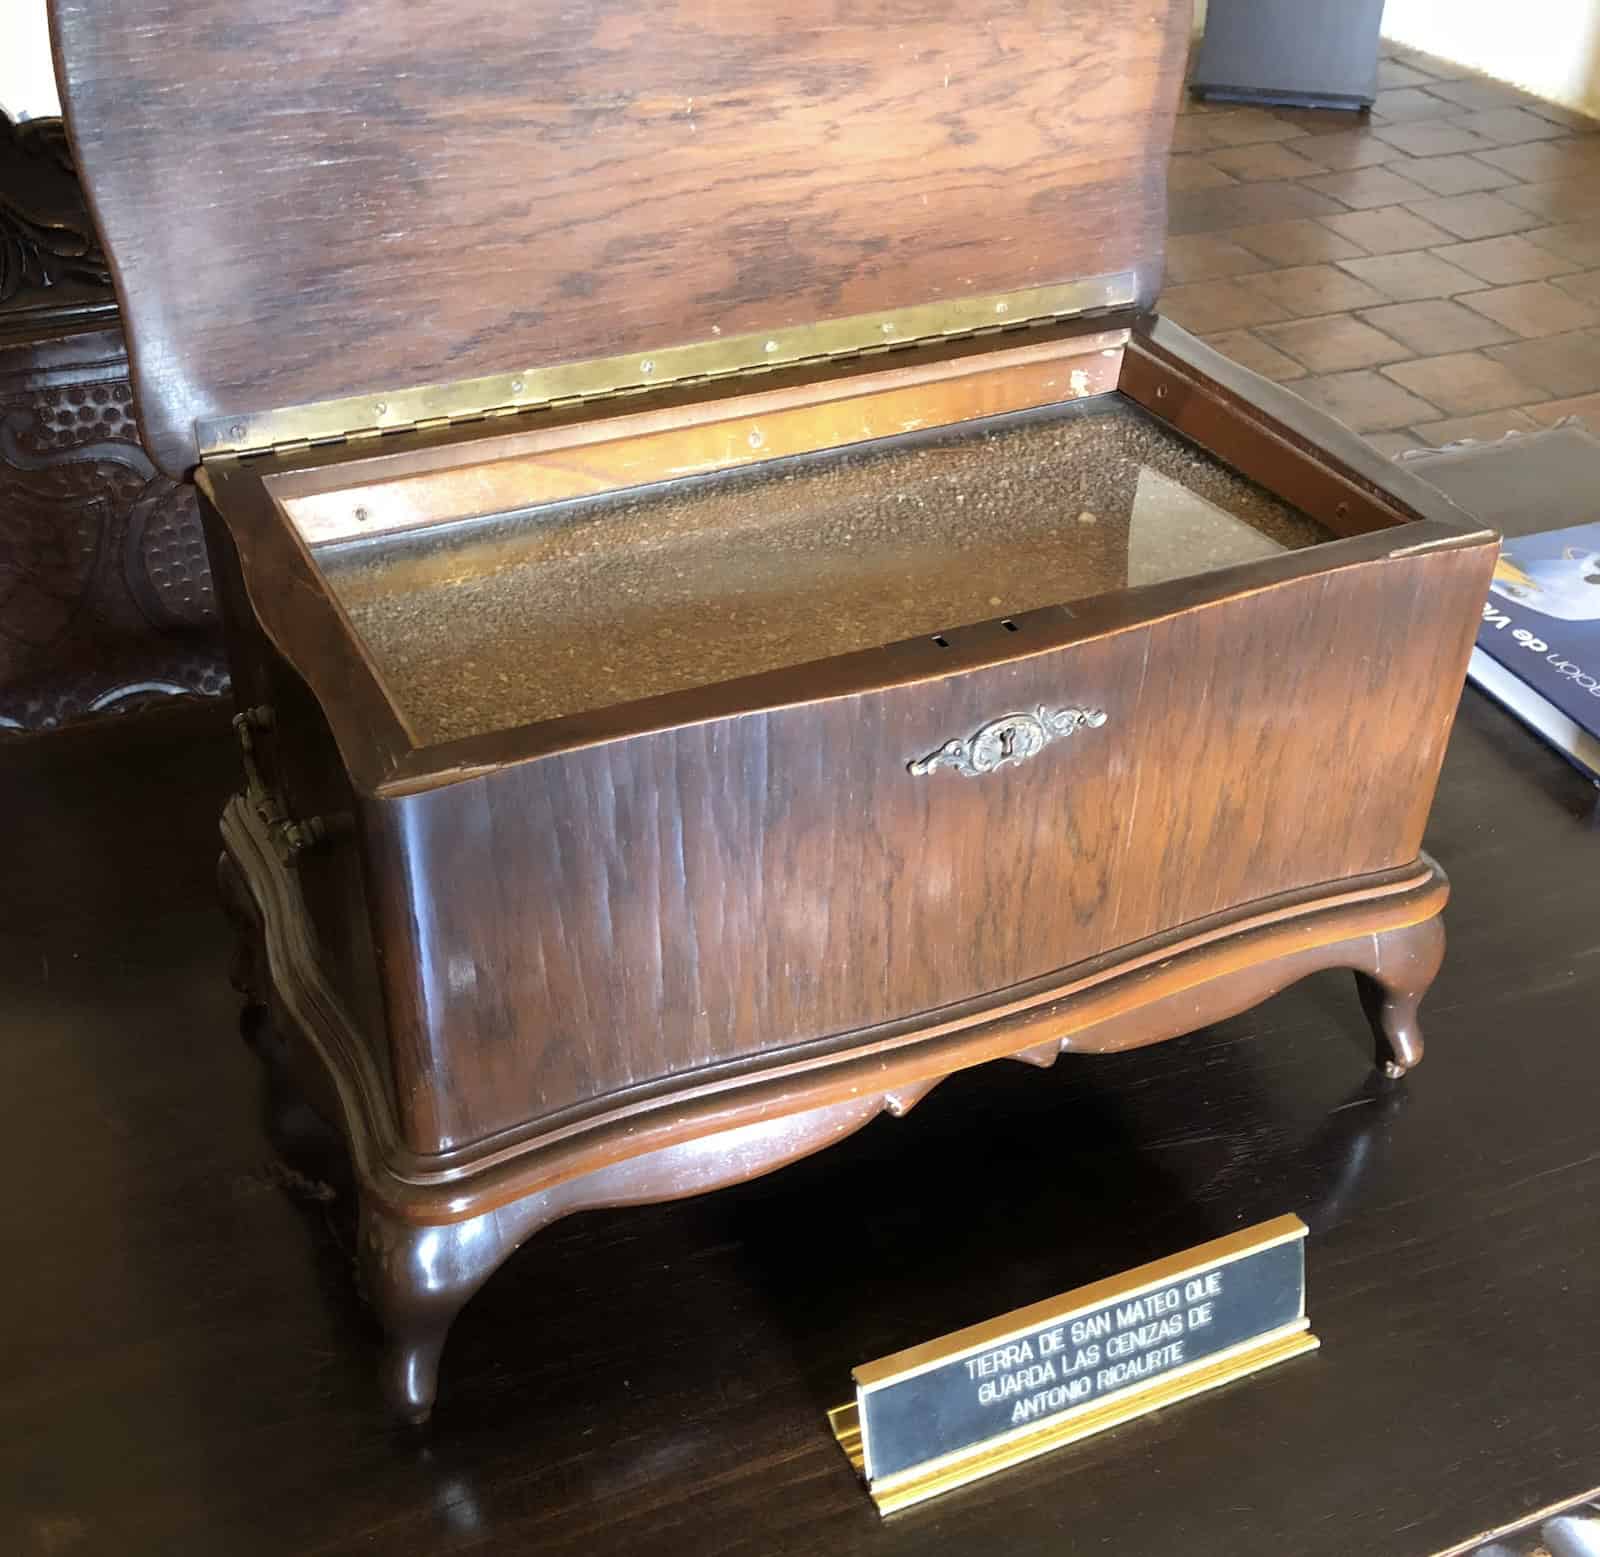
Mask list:
[[[962,1067],[1322,967],[1419,1058],[1494,538],[1160,320],[1189,22],[56,0],[405,1416],[541,1226]]]

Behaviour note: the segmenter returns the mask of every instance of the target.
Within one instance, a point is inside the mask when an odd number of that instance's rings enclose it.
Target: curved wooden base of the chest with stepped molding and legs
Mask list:
[[[362,1199],[362,1271],[395,1413],[426,1419],[454,1314],[528,1237],[571,1211],[674,1200],[770,1173],[906,1114],[957,1071],[1157,1043],[1322,968],[1352,968],[1379,1064],[1422,1056],[1416,1010],[1443,957],[1443,874],[1413,866],[1186,925],[906,1023],[866,1029],[568,1111],[448,1155],[408,1154],[366,1039],[323,978],[310,920],[259,818],[234,800],[219,879],[286,1063],[334,1119]],[[264,987],[262,987],[264,986]]]

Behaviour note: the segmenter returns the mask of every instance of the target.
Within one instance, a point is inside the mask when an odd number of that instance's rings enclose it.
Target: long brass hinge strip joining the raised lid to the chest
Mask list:
[[[858,314],[790,330],[568,362],[525,373],[496,373],[454,384],[422,384],[275,411],[203,416],[195,421],[195,437],[202,459],[291,453],[312,443],[347,443],[387,432],[414,432],[648,394],[669,384],[771,373],[774,368],[872,355],[938,339],[1093,317],[1131,307],[1136,301],[1138,277],[1125,270],[1058,286]]]

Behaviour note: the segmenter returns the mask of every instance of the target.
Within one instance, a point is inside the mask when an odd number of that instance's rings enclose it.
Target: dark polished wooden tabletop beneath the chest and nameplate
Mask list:
[[[234,1037],[232,781],[214,707],[0,747],[0,1551],[1410,1557],[1600,1483],[1595,792],[1477,693],[1410,1082],[1334,975],[960,1077],[773,1178],[546,1232],[422,1434],[373,1391],[336,1159]],[[851,1363],[1280,1211],[1320,1354],[878,1520],[824,1421]]]

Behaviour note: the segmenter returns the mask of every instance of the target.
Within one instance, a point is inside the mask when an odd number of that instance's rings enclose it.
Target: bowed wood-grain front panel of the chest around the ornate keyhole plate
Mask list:
[[[397,1074],[429,1077],[400,1090],[406,1143],[462,1146],[1411,863],[1491,562],[1330,568],[386,802],[368,869],[389,1042]],[[982,779],[907,771],[1038,706],[1107,720]]]

